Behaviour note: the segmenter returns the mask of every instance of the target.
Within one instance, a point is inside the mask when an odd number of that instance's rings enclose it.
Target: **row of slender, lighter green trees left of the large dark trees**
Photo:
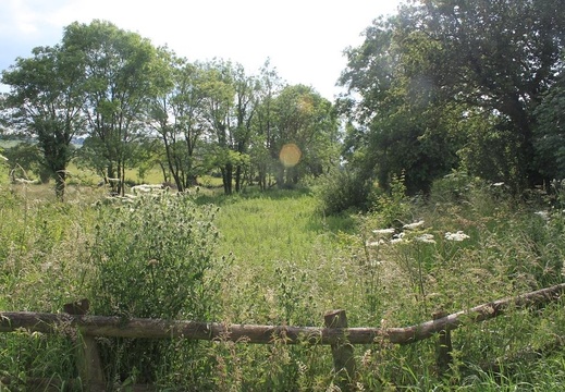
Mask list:
[[[159,164],[180,191],[219,172],[226,194],[250,180],[288,186],[337,161],[332,102],[285,84],[269,61],[257,75],[224,60],[191,62],[105,21],[69,25],[60,44],[16,59],[1,81],[10,86],[2,124],[37,140],[60,198],[73,159],[118,179],[121,193],[126,169]],[[283,146],[298,162],[279,159]]]

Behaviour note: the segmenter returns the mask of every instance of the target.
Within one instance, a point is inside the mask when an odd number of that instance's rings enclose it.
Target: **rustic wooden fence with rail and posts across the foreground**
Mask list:
[[[120,317],[87,315],[88,301],[83,299],[64,307],[65,313],[47,314],[29,311],[0,311],[0,332],[26,330],[29,332],[64,333],[78,331],[83,344],[77,344],[77,366],[82,380],[91,390],[103,390],[105,380],[95,336],[170,339],[182,338],[207,341],[231,341],[271,344],[307,342],[330,345],[334,370],[342,389],[355,376],[355,344],[373,344],[388,341],[394,344],[412,344],[437,336],[437,360],[439,371],[451,363],[450,332],[463,323],[484,321],[503,315],[512,308],[540,306],[556,301],[565,292],[565,283],[536,292],[482,304],[455,314],[434,314],[433,319],[405,328],[348,328],[345,310],[324,315],[324,326],[285,327],[256,324],[225,324],[218,322],[179,321],[163,319],[123,319]],[[75,333],[76,334],[76,333]]]

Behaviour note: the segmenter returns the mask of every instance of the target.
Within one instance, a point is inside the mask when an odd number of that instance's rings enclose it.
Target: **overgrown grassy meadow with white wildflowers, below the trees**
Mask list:
[[[442,310],[562,283],[560,192],[526,201],[454,173],[427,199],[376,194],[368,213],[324,216],[317,185],[223,196],[213,188],[124,204],[71,185],[65,203],[42,185],[0,186],[0,309],[59,313],[87,297],[95,315],[238,324],[406,327]],[[453,333],[453,365],[434,343],[355,346],[356,391],[561,391],[560,301],[516,309]],[[74,342],[74,343],[73,343]],[[76,379],[61,334],[0,334],[0,391],[32,378],[60,390]],[[109,389],[337,391],[328,346],[100,339]]]

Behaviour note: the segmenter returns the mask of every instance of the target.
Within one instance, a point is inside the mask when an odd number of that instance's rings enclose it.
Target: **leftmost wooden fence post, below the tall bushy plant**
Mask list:
[[[83,316],[89,308],[88,299],[65,304],[64,311],[69,315]],[[106,382],[102,372],[100,353],[94,336],[78,335],[75,343],[76,366],[83,385],[87,391],[105,391]]]

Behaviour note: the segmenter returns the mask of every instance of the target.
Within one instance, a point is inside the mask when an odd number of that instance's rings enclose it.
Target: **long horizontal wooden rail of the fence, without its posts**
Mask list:
[[[440,331],[451,331],[468,321],[483,321],[504,314],[509,308],[542,305],[554,301],[565,292],[565,283],[482,304],[434,320],[405,328],[321,328],[256,324],[225,324],[218,322],[174,321],[107,316],[83,316],[30,311],[0,311],[0,332],[25,329],[30,332],[54,333],[65,328],[77,328],[87,336],[185,338],[194,340],[224,340],[268,344],[283,340],[287,344],[310,342],[335,344],[345,335],[351,344],[370,344],[388,340],[396,344],[409,344],[428,339]]]

